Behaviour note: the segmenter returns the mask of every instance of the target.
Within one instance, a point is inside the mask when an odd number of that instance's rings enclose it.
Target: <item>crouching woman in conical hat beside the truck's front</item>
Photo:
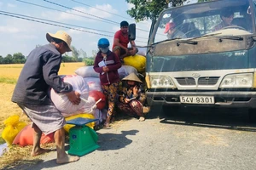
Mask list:
[[[122,79],[123,89],[119,94],[118,108],[129,116],[138,116],[139,121],[145,120],[143,113],[143,104],[145,102],[145,95],[141,91],[142,81],[135,73],[131,73]]]

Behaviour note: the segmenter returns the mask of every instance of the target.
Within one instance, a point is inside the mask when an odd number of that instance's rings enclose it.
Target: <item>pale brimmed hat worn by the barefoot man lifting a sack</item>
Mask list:
[[[72,38],[67,34],[66,31],[57,31],[55,34],[51,34],[51,33],[47,33],[46,34],[46,39],[51,42],[51,38],[54,37],[54,38],[57,38],[57,39],[60,39],[64,42],[67,43],[67,47],[68,47],[68,50],[67,52],[69,51],[72,51],[71,50],[71,41],[72,41]]]

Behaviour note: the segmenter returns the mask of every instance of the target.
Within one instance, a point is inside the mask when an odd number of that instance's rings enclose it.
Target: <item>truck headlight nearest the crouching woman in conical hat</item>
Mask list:
[[[166,76],[150,76],[151,88],[175,88],[171,77]]]

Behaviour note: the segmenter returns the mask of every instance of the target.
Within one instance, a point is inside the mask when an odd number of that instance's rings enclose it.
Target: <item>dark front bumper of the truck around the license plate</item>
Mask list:
[[[147,92],[148,105],[207,106],[226,108],[256,108],[256,92]],[[214,104],[183,104],[180,96],[213,96]]]

